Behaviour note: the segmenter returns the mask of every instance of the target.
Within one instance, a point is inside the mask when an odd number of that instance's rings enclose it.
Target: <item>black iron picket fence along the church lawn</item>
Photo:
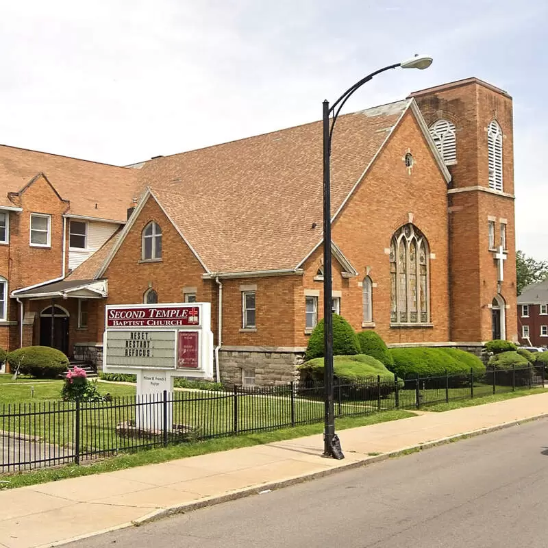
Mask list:
[[[545,366],[477,375],[371,377],[335,382],[335,414],[420,408],[433,403],[545,386]],[[36,402],[0,408],[0,473],[102,458],[169,443],[323,421],[318,384],[182,390],[112,401]]]

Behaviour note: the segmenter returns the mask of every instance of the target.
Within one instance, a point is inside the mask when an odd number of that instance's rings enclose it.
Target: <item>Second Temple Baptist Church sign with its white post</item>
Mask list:
[[[213,378],[211,304],[106,306],[103,371],[137,375],[136,427],[163,429],[160,402],[164,390],[173,391],[173,378]],[[147,406],[145,401],[158,403]],[[171,430],[171,402],[167,407]]]

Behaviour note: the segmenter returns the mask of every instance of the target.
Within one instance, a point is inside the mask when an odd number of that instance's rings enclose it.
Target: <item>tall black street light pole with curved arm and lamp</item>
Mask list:
[[[323,101],[323,345],[324,345],[324,366],[323,379],[325,386],[325,410],[324,410],[324,432],[323,432],[323,456],[336,459],[345,458],[340,450],[338,438],[335,434],[335,410],[334,410],[334,368],[333,368],[333,292],[332,292],[332,271],[331,271],[331,173],[330,157],[333,129],[337,121],[340,109],[347,102],[347,99],[373,76],[396,69],[427,69],[432,64],[432,58],[424,55],[415,55],[414,58],[402,63],[391,64],[379,69],[374,73],[362,78],[351,88],[347,89],[329,107],[329,101]],[[329,116],[333,114],[332,121]]]

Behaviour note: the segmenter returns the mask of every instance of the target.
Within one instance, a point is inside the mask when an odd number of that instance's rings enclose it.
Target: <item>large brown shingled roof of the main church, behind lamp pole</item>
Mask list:
[[[412,103],[339,117],[333,215]],[[156,158],[137,171],[210,272],[240,273],[295,269],[319,244],[322,165],[319,121]]]

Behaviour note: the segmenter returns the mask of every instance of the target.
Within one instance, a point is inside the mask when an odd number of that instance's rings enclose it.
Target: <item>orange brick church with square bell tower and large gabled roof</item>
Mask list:
[[[146,190],[120,234],[19,297],[95,291],[70,332],[94,352],[107,303],[208,301],[222,379],[287,382],[323,316],[321,135],[315,122],[130,166]],[[334,308],[354,329],[516,340],[512,141],[512,99],[475,78],[340,116]]]

